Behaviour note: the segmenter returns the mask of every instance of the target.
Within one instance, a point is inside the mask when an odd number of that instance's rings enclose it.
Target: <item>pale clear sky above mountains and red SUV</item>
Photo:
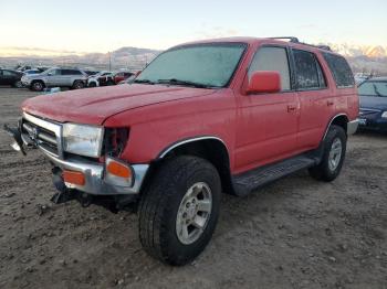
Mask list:
[[[0,56],[165,50],[236,35],[387,46],[386,12],[386,0],[0,0]]]

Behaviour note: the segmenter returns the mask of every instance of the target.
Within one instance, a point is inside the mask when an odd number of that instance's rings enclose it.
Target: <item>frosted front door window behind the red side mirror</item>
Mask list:
[[[262,47],[251,62],[249,78],[254,72],[272,71],[281,75],[282,90],[291,89],[287,52],[282,47]]]

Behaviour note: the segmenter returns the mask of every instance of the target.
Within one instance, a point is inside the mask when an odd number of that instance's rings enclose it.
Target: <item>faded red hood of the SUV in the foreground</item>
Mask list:
[[[22,109],[60,122],[102,125],[106,118],[128,109],[212,93],[180,86],[118,85],[36,96],[27,99]]]

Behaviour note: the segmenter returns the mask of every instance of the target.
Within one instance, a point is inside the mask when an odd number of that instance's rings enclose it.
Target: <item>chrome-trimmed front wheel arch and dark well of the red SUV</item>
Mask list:
[[[218,170],[222,190],[232,193],[230,154],[226,142],[213,136],[184,139],[165,148],[156,162],[177,156],[195,156],[208,160]]]

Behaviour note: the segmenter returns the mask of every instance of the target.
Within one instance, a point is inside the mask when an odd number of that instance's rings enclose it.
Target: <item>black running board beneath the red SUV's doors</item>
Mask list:
[[[299,156],[274,164],[268,164],[232,176],[234,193],[247,195],[257,189],[281,179],[287,174],[318,164],[320,159],[311,156]]]

